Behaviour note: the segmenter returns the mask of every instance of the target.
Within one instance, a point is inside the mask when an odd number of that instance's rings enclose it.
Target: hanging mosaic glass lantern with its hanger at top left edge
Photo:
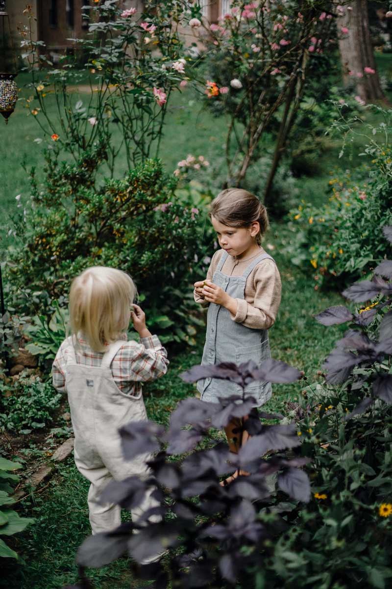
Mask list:
[[[7,64],[7,48],[6,48],[6,23],[8,24],[9,40],[11,44],[11,53],[14,53],[14,46],[12,44],[11,25],[9,24],[9,16],[6,11],[5,0],[0,0],[0,35],[1,44],[0,49],[0,114],[5,118],[5,123],[8,123],[9,115],[14,112],[16,101],[18,100],[18,86],[14,78],[16,71],[9,71],[9,64]],[[15,55],[12,56],[12,61],[15,67]]]

